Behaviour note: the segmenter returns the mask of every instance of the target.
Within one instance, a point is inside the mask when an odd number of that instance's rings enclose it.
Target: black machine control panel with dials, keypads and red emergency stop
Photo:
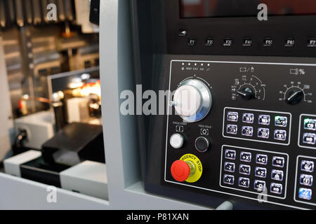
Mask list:
[[[194,58],[170,59],[162,184],[315,209],[316,64]]]

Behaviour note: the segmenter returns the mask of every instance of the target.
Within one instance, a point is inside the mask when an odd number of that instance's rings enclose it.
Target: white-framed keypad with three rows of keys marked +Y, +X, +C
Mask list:
[[[234,155],[233,162],[230,160],[232,156],[227,156],[229,153]],[[265,190],[270,197],[284,199],[288,157],[286,153],[223,146],[220,186],[246,190],[256,195]]]

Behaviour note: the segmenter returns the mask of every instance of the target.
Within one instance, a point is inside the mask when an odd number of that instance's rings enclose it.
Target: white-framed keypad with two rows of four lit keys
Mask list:
[[[224,118],[224,137],[289,145],[290,113],[225,108]],[[314,141],[316,141],[316,131],[315,137],[312,138],[312,142]]]

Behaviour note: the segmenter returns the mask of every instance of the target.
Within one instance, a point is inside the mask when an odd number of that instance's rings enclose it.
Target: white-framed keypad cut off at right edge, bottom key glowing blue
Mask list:
[[[314,178],[316,158],[299,155],[296,165],[296,188],[294,200],[316,205],[316,184]],[[314,195],[313,195],[314,194]]]

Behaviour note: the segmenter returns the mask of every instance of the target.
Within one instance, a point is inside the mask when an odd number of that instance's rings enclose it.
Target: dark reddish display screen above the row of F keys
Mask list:
[[[260,3],[268,6],[268,15],[316,15],[316,0],[180,0],[180,17],[256,16]]]

